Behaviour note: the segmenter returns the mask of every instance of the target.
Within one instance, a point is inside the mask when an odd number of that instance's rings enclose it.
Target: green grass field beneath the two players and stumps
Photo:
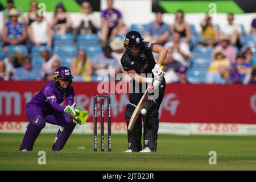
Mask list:
[[[0,134],[0,170],[256,170],[256,137],[160,134],[156,153],[123,153],[127,135],[117,134],[112,152],[106,136],[105,152],[93,152],[93,135],[76,134],[53,152],[54,138],[40,134],[32,152],[20,152],[23,134]],[[46,165],[38,164],[39,151],[46,152]],[[209,151],[217,152],[216,165],[208,163]]]

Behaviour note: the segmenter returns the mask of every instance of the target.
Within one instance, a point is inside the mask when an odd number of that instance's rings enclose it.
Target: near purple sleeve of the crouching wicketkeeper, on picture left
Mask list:
[[[49,104],[52,106],[52,108],[55,111],[58,111],[61,113],[64,112],[65,107],[58,104],[56,94],[51,87],[47,88],[44,94],[46,96],[47,102],[49,102]]]

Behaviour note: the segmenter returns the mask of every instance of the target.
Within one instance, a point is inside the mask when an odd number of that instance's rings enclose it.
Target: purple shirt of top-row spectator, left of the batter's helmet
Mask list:
[[[116,9],[112,9],[112,11],[109,11],[107,9],[107,10],[101,11],[101,18],[103,18],[103,19],[110,19],[110,18],[112,18],[113,22],[109,23],[109,27],[113,27],[114,28],[114,27],[117,26],[118,20],[120,18],[122,18],[122,14],[120,13],[120,11],[118,11]]]

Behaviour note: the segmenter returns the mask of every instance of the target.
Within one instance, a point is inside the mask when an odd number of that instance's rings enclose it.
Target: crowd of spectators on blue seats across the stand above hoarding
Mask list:
[[[0,80],[52,80],[57,67],[71,68],[76,81],[98,81],[124,73],[120,59],[125,49],[123,38],[130,30],[139,31],[144,41],[158,43],[168,50],[164,71],[167,84],[256,84],[256,18],[249,34],[242,24],[234,24],[234,14],[227,24],[212,23],[208,14],[200,21],[201,32],[185,22],[182,10],[173,23],[163,22],[156,12],[150,23],[126,26],[122,12],[107,0],[97,22],[92,5],[81,3],[77,21],[58,2],[51,21],[31,1],[23,14],[13,0],[7,0],[1,32]],[[157,55],[154,55],[155,58]]]

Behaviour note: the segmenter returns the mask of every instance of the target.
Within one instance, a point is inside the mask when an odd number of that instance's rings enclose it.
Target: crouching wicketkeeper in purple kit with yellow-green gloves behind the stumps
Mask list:
[[[53,151],[61,151],[77,124],[88,118],[88,111],[75,107],[72,74],[69,68],[59,67],[53,75],[53,81],[26,104],[26,115],[30,123],[20,146],[20,151],[32,151],[36,138],[46,126],[46,122],[59,125]],[[67,106],[60,105],[66,99]]]

